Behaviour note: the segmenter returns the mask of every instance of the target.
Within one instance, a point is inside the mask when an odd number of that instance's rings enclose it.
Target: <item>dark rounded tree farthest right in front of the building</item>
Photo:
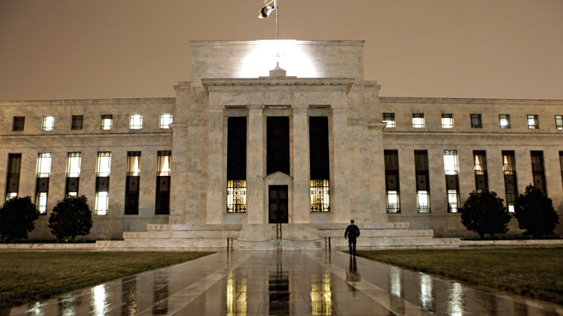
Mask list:
[[[524,235],[534,237],[551,235],[559,223],[559,216],[553,209],[551,199],[532,185],[526,186],[524,194],[516,198],[514,212],[518,219],[518,227],[526,230]]]

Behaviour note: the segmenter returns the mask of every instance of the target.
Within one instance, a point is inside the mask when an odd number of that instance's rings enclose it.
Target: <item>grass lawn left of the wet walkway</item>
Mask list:
[[[209,254],[0,251],[0,309]]]

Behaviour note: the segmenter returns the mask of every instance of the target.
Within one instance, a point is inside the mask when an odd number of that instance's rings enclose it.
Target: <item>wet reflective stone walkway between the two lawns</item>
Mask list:
[[[563,315],[551,304],[339,251],[222,252],[29,303],[26,315]]]

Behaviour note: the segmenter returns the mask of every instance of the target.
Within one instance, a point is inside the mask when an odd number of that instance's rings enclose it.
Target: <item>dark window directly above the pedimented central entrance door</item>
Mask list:
[[[266,126],[266,173],[289,175],[289,117],[267,117]]]

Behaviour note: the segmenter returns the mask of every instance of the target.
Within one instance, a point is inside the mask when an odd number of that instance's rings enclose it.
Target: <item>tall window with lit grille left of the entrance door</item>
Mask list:
[[[246,203],[247,118],[227,120],[227,212],[243,213]]]

